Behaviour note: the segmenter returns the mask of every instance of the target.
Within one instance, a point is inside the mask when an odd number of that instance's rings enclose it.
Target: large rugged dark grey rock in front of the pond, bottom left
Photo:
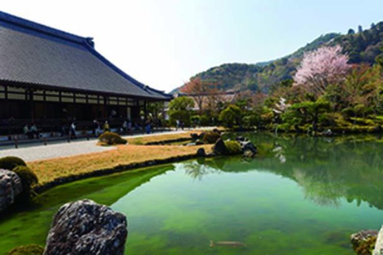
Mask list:
[[[92,200],[63,205],[53,218],[45,255],[124,254],[126,216]]]

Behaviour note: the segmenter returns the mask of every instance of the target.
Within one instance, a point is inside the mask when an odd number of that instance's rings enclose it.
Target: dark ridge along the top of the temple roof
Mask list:
[[[14,16],[12,14],[0,11],[0,20],[5,21],[7,23],[11,23],[13,25],[17,25],[22,28],[26,28],[29,30],[33,30],[45,35],[50,35],[53,37],[58,37],[63,40],[76,42],[76,43],[89,43],[91,46],[93,46],[93,41],[91,37],[82,37],[75,34],[71,34],[62,30],[58,30],[52,27],[48,27],[47,25],[40,24],[28,19],[20,18],[17,16]]]

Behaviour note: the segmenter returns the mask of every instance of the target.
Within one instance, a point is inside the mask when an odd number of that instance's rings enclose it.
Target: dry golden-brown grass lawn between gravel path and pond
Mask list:
[[[191,133],[191,132],[190,132]],[[206,152],[211,151],[211,145],[180,146],[180,145],[136,145],[136,139],[142,143],[173,140],[190,137],[190,133],[169,134],[143,138],[128,139],[128,145],[119,145],[115,149],[87,155],[71,156],[65,158],[49,159],[29,162],[28,166],[36,173],[39,184],[45,184],[58,177],[92,172],[118,165],[141,163],[148,160],[166,159],[175,156],[193,155],[199,147]]]

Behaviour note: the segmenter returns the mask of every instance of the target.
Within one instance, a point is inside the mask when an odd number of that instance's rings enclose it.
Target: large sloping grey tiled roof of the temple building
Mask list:
[[[172,96],[117,68],[80,37],[0,12],[0,80],[151,99]]]

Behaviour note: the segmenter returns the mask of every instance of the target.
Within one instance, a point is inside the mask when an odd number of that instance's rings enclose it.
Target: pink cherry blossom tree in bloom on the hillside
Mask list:
[[[305,86],[317,95],[323,94],[330,84],[338,84],[346,78],[351,68],[342,47],[324,46],[304,54],[294,76],[295,86]]]

